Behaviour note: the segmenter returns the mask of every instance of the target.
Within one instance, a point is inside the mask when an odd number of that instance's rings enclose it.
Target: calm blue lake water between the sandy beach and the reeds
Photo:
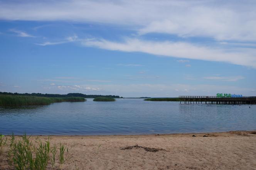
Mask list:
[[[48,106],[0,107],[0,133],[5,135],[134,135],[255,129],[256,105],[87,99]]]

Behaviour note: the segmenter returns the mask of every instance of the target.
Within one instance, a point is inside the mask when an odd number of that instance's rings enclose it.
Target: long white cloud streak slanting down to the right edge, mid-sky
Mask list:
[[[85,40],[82,41],[82,44],[106,50],[143,52],[155,55],[200,59],[206,61],[222,61],[256,68],[256,49],[233,48],[225,50],[222,48],[210,48],[209,46],[199,46],[184,42],[143,41],[135,38],[127,38],[121,43],[107,40]]]

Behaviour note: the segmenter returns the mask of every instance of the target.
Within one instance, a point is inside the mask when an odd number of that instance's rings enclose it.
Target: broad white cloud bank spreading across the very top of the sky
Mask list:
[[[0,19],[89,21],[135,26],[140,34],[156,32],[255,41],[255,6],[255,1],[220,0],[3,1]]]

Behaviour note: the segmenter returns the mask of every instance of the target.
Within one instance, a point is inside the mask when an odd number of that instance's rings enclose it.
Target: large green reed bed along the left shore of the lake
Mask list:
[[[84,97],[37,97],[0,94],[0,106],[49,105],[54,102],[86,101]]]

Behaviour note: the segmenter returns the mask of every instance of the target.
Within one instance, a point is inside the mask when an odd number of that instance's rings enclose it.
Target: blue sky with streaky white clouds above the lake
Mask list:
[[[256,1],[0,0],[0,91],[256,96]]]

